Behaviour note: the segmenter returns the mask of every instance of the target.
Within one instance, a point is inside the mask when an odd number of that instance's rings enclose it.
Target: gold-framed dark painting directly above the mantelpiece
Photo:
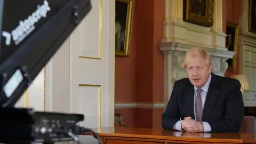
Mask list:
[[[183,0],[183,20],[196,25],[213,26],[214,0]]]

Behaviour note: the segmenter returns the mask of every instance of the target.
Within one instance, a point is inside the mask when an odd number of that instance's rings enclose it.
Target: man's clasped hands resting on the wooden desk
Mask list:
[[[181,123],[181,128],[186,132],[203,132],[204,127],[201,122],[197,122],[192,119],[190,116],[185,117]]]

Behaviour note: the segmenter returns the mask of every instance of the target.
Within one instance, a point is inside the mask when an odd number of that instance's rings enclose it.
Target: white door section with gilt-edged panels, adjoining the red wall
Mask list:
[[[94,10],[70,37],[70,111],[83,111],[87,127],[114,125],[114,3],[92,1]]]

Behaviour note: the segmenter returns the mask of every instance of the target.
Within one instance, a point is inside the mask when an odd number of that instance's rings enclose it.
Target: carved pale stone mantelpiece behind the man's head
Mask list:
[[[182,68],[182,62],[187,50],[194,45],[173,42],[163,42],[158,45],[164,55],[164,101],[167,102],[174,82],[187,77],[186,70]],[[211,55],[212,72],[216,75],[224,76],[228,68],[226,60],[232,59],[236,52],[203,48],[207,49]]]

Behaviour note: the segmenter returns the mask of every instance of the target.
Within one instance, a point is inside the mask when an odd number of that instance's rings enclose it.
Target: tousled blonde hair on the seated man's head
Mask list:
[[[197,56],[202,57],[205,60],[205,64],[207,66],[211,65],[211,57],[205,49],[201,49],[199,47],[192,47],[187,51],[185,59],[182,63],[182,67],[186,69],[188,61]]]

